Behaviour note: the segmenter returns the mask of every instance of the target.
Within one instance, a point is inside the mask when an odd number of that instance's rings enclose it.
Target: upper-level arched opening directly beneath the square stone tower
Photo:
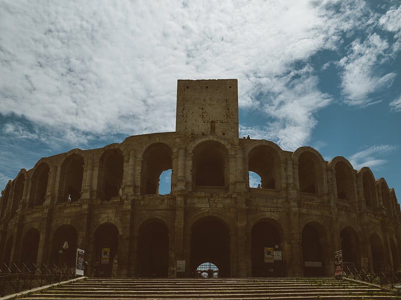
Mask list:
[[[193,150],[192,180],[195,186],[228,185],[228,151],[216,141],[200,143]]]

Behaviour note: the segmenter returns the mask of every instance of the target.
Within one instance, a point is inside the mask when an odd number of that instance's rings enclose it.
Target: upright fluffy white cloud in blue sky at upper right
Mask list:
[[[385,52],[388,49],[388,43],[376,33],[363,42],[357,39],[351,43],[349,55],[339,62],[344,70],[341,87],[346,97],[344,100],[346,104],[369,105],[372,103],[369,94],[392,84],[395,73],[380,75],[377,70],[377,65],[387,59]]]

